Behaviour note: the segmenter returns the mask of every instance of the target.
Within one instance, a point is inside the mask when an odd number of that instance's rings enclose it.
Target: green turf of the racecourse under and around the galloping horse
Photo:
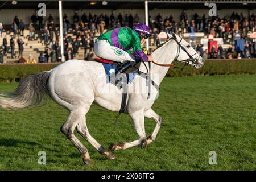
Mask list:
[[[17,83],[0,83],[0,92]],[[163,126],[150,146],[114,151],[106,160],[88,142],[92,164],[60,132],[68,111],[50,101],[30,110],[0,110],[0,169],[8,170],[256,170],[256,75],[167,77],[153,109]],[[90,134],[105,148],[137,134],[129,116],[93,105],[87,114]],[[155,122],[146,119],[150,135]],[[76,133],[77,135],[77,133]],[[78,135],[77,135],[78,136]],[[46,152],[46,165],[38,152]],[[209,151],[217,152],[210,165]]]

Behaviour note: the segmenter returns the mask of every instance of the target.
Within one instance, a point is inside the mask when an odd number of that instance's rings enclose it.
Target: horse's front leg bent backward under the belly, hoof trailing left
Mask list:
[[[146,133],[145,133],[145,126],[144,126],[144,113],[143,111],[137,111],[133,114],[130,114],[131,119],[133,119],[134,128],[139,136],[138,140],[133,142],[126,142],[126,143],[119,143],[119,144],[111,144],[109,146],[109,150],[120,150],[126,149],[134,146],[138,146],[139,144],[143,144],[146,141]]]

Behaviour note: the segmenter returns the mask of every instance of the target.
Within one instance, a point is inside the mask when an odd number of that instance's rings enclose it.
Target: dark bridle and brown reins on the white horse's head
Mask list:
[[[162,67],[170,67],[170,68],[179,68],[179,69],[182,69],[182,68],[184,68],[185,66],[187,66],[187,65],[189,64],[189,62],[191,62],[192,65],[196,65],[196,64],[198,63],[200,55],[198,55],[196,58],[194,58],[193,56],[195,56],[195,55],[197,54],[197,52],[196,52],[196,53],[194,53],[194,54],[191,56],[191,54],[187,51],[187,49],[185,49],[185,48],[180,44],[181,41],[182,41],[182,38],[180,38],[180,41],[179,41],[179,42],[178,42],[175,38],[170,38],[170,39],[175,40],[175,42],[176,42],[177,45],[178,45],[178,48],[177,48],[177,55],[175,56],[175,59],[174,59],[174,61],[173,61],[173,62],[175,62],[175,63],[171,63],[171,64],[160,64],[160,63],[156,63],[155,61],[152,61],[154,64],[159,65],[159,66],[162,66]],[[190,45],[189,45],[189,46],[190,46]],[[178,59],[178,57],[179,57],[179,55],[180,55],[180,49],[183,49],[183,51],[185,51],[185,53],[187,53],[187,55],[188,55],[188,57],[189,57],[188,59],[185,59],[185,60],[182,60],[182,61],[177,61],[177,59]],[[184,63],[184,65],[183,65],[182,67],[175,67],[175,66],[174,66],[174,65],[179,64],[179,63]]]

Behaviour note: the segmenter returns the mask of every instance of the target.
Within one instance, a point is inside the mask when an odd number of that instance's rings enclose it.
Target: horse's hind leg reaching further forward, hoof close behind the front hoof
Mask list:
[[[84,119],[81,119],[76,127],[77,129],[77,133],[79,133],[80,135],[82,135],[82,137],[84,137],[90,144],[92,144],[92,146],[94,148],[96,148],[96,150],[101,154],[101,155],[105,155],[107,159],[114,159],[115,156],[109,152],[106,151],[100,143],[98,143],[90,134],[88,131],[88,128],[86,126],[86,119],[84,117]]]

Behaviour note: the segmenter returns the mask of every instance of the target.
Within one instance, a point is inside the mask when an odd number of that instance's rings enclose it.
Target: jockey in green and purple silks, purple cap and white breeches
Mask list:
[[[152,61],[151,55],[147,56],[141,44],[150,35],[150,28],[146,24],[139,23],[135,25],[134,29],[129,27],[120,27],[105,32],[96,40],[94,52],[102,59],[117,61],[121,64],[115,71],[115,75],[125,72],[131,67],[131,61],[135,62],[135,56],[142,61]],[[134,55],[131,54],[133,49]]]

